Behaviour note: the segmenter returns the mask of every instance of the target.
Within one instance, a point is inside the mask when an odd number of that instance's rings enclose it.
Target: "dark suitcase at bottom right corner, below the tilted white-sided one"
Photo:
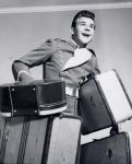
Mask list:
[[[132,133],[120,132],[82,144],[80,164],[132,164]]]

